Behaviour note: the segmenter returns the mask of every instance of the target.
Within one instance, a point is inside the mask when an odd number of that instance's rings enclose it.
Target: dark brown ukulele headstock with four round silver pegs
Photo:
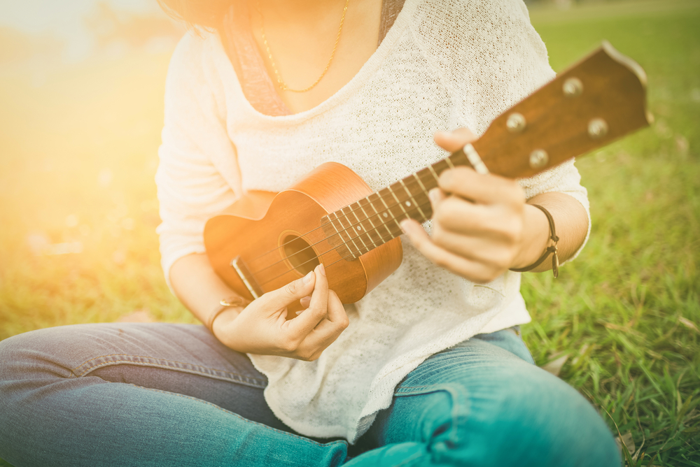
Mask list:
[[[607,41],[491,122],[473,143],[491,173],[522,178],[652,122],[646,74]]]

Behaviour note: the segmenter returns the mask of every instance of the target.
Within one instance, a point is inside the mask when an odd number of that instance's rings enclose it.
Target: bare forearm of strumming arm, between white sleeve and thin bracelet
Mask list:
[[[178,299],[204,324],[222,299],[236,295],[216,275],[206,254],[188,254],[175,261],[170,268],[170,283]],[[238,310],[232,308],[226,314]]]

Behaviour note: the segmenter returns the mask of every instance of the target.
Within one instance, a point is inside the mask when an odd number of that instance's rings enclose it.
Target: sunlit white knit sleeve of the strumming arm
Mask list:
[[[208,53],[214,39],[187,34],[167,74],[155,182],[162,220],[157,229],[161,264],[169,286],[169,271],[177,259],[204,252],[207,219],[240,194],[236,151],[221,111],[223,90]]]

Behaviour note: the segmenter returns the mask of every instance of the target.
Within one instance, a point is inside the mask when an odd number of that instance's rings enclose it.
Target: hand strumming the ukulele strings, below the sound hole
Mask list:
[[[286,319],[287,307],[297,300],[308,308]],[[221,313],[212,328],[218,340],[238,352],[312,361],[348,324],[321,264],[303,278],[262,295],[237,315],[235,310]]]

